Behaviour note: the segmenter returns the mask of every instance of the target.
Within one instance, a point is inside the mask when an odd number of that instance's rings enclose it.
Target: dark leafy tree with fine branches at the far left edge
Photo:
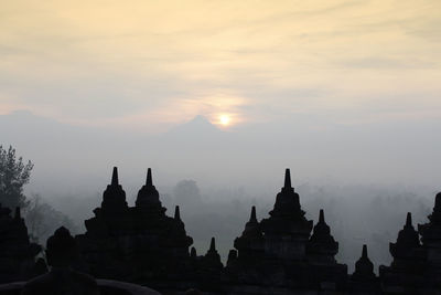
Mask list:
[[[12,146],[8,150],[0,146],[0,202],[3,207],[26,206],[23,186],[29,182],[33,167],[31,161],[23,164],[22,157],[17,159]]]

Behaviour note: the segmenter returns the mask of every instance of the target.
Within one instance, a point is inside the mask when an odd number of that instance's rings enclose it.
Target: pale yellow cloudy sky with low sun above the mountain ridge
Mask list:
[[[441,1],[0,0],[0,114],[152,130],[441,117]]]

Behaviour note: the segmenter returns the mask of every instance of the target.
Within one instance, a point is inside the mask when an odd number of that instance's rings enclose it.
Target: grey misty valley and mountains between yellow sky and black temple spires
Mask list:
[[[427,221],[441,190],[440,129],[430,119],[345,126],[305,117],[220,129],[197,116],[151,134],[67,125],[29,112],[0,116],[2,145],[35,165],[26,196],[41,196],[76,233],[100,206],[111,167],[119,168],[130,206],[151,167],[169,215],[179,204],[198,253],[216,236],[225,262],[251,206],[266,218],[283,169],[291,168],[308,219],[316,221],[324,209],[340,242],[337,260],[349,271],[364,243],[376,268],[390,262],[388,245],[407,212],[416,223]]]

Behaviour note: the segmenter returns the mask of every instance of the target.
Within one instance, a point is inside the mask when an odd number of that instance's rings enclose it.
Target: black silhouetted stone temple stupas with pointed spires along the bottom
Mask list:
[[[205,254],[197,254],[180,208],[175,207],[173,217],[165,211],[150,168],[135,207],[129,207],[115,167],[101,206],[85,221],[86,232],[75,236],[78,255],[72,267],[98,278],[98,286],[99,280],[114,280],[161,294],[185,294],[189,289],[244,295],[441,294],[441,192],[428,223],[416,229],[411,213],[404,214],[404,228],[389,244],[394,260],[388,266],[380,265],[378,275],[366,245],[352,274],[347,265],[335,260],[338,242],[324,210],[318,212],[316,224],[305,218],[289,169],[269,217],[259,221],[256,208],[250,209],[249,221],[234,240],[226,265],[215,238],[207,241]],[[42,260],[34,263],[40,246],[29,242],[20,210],[11,218],[9,210],[0,208],[0,229],[1,261],[22,265],[7,273],[1,263],[2,283],[35,276],[36,264],[43,270],[40,273],[45,272]],[[15,252],[9,245],[15,245]]]

